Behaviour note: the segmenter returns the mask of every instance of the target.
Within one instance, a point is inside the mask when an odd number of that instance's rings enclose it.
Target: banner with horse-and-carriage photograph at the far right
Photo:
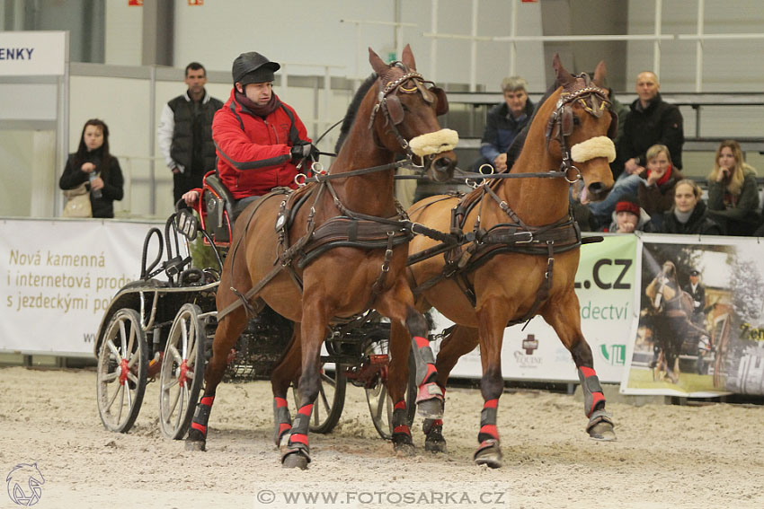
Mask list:
[[[760,239],[644,235],[621,392],[764,394]]]

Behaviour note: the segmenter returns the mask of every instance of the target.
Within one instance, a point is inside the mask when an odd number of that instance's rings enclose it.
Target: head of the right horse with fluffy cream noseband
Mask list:
[[[569,181],[582,179],[582,201],[598,201],[613,187],[609,162],[616,158],[612,138],[617,134],[617,116],[600,88],[605,64],[600,62],[595,79],[568,73],[560,57],[553,62],[559,95],[546,126],[549,153],[562,160],[561,170]],[[571,174],[571,171],[575,173]]]

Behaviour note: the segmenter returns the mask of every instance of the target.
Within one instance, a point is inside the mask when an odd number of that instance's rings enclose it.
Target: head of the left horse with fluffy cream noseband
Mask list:
[[[378,75],[377,103],[369,120],[378,146],[405,154],[414,164],[418,158],[431,180],[449,180],[457,163],[458,134],[438,123],[438,116],[449,110],[446,92],[416,72],[409,45],[401,61],[389,65],[369,48],[369,63]]]

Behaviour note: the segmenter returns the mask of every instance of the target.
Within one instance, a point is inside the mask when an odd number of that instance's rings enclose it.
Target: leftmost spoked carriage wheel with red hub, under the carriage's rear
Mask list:
[[[148,346],[137,311],[114,314],[98,354],[98,413],[106,429],[127,433],[146,391]]]

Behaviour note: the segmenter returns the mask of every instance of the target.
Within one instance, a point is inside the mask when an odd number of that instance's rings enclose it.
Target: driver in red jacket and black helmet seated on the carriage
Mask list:
[[[296,189],[297,164],[305,160],[309,165],[318,156],[298,114],[273,93],[273,75],[279,69],[255,51],[236,57],[234,88],[212,121],[218,176],[238,200],[235,215],[273,188]],[[199,195],[194,189],[183,199],[191,205]]]

